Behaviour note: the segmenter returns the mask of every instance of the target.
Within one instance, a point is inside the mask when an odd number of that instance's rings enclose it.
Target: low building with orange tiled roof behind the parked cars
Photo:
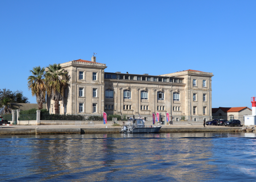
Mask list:
[[[243,124],[246,115],[252,115],[252,110],[249,107],[212,108],[212,118],[214,119],[238,119]]]

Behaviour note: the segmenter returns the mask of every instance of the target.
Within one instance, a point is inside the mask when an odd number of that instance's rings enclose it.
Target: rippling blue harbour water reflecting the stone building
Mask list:
[[[253,133],[0,136],[0,181],[255,181]]]

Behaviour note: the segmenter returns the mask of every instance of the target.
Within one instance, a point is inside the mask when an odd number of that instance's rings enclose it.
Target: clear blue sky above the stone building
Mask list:
[[[29,70],[76,59],[107,72],[212,72],[212,107],[251,108],[256,0],[0,0],[0,89]]]

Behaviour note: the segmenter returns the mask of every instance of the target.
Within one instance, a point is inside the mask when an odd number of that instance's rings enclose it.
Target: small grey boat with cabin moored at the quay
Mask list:
[[[143,119],[129,119],[128,122],[119,129],[120,133],[157,133],[161,125],[145,125]]]

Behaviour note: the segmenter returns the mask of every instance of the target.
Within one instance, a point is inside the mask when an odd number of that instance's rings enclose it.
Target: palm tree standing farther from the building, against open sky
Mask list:
[[[30,70],[33,74],[28,77],[28,89],[32,91],[32,96],[36,96],[36,102],[38,103],[38,109],[43,109],[43,103],[46,102],[46,87],[45,87],[45,68],[40,66],[34,67]]]

